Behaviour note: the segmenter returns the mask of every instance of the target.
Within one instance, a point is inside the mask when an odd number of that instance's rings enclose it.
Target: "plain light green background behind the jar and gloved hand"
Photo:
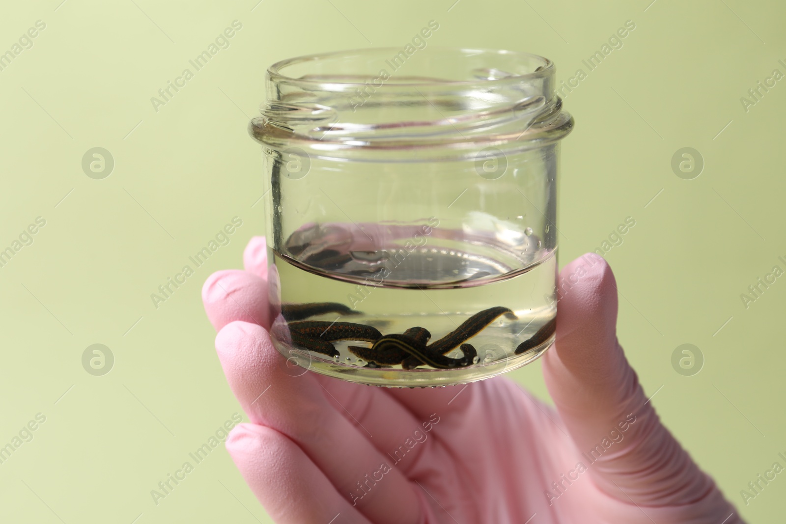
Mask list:
[[[586,71],[581,60],[634,21],[623,48],[565,97],[576,128],[563,147],[560,262],[635,218],[606,255],[619,340],[664,423],[744,517],[782,522],[786,478],[747,507],[740,489],[786,452],[786,278],[747,309],[740,294],[786,269],[786,80],[748,112],[740,97],[774,68],[786,73],[786,9],[650,1],[4,5],[0,52],[35,20],[46,29],[0,71],[0,249],[36,217],[46,226],[0,267],[0,445],[36,413],[46,422],[0,464],[0,521],[269,522],[222,446],[160,504],[150,496],[240,411],[200,288],[241,267],[263,232],[263,206],[252,206],[265,190],[260,151],[246,125],[274,61],[404,46],[433,19],[429,46],[527,50],[554,60],[560,79]],[[150,98],[233,20],[243,27],[230,48],[156,112]],[[94,147],[115,160],[103,180],[81,167]],[[670,167],[683,147],[706,163],[693,180]],[[231,243],[156,309],[150,294],[236,215]],[[94,343],[114,354],[105,376],[82,367]],[[671,366],[682,343],[705,357],[696,376]],[[539,365],[512,376],[547,398]]]

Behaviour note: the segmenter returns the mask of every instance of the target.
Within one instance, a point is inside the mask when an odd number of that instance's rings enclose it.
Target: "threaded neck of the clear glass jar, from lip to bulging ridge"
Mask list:
[[[278,61],[267,70],[267,103],[249,133],[268,148],[298,145],[325,158],[406,150],[421,161],[485,146],[542,147],[572,129],[553,89],[552,60],[508,49],[426,48]]]

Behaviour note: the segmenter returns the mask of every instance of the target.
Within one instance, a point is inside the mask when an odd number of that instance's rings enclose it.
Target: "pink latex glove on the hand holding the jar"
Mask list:
[[[263,237],[244,266],[213,274],[202,296],[251,420],[226,449],[276,522],[743,522],[645,397],[602,258],[560,273],[570,289],[543,357],[556,412],[503,377],[410,390],[305,372],[266,331]]]

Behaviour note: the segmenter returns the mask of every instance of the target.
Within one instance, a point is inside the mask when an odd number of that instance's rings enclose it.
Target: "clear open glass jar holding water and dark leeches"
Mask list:
[[[249,130],[269,188],[271,336],[290,373],[467,383],[553,343],[573,126],[554,74],[532,54],[432,47],[268,69]]]

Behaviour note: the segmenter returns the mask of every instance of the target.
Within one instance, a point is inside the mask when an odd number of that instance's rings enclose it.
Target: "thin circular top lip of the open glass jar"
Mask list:
[[[443,52],[443,53],[456,53],[457,55],[465,54],[466,56],[474,56],[479,53],[489,53],[492,55],[516,55],[522,58],[527,58],[529,60],[536,60],[540,62],[540,67],[536,68],[537,71],[530,71],[527,73],[522,74],[509,74],[502,76],[496,79],[472,79],[472,80],[444,80],[444,79],[434,79],[432,82],[423,81],[423,82],[399,82],[398,86],[430,86],[434,85],[435,83],[439,82],[439,84],[444,84],[448,86],[494,86],[494,85],[501,85],[509,82],[521,82],[522,80],[528,79],[538,79],[543,78],[548,75],[553,74],[553,70],[555,69],[555,65],[552,60],[549,60],[546,57],[542,57],[541,55],[534,54],[534,53],[526,53],[523,51],[515,51],[510,49],[484,49],[484,48],[465,48],[465,47],[450,47],[450,46],[429,46],[429,49]],[[298,64],[306,64],[308,62],[317,61],[317,60],[330,60],[330,59],[347,59],[352,57],[359,57],[362,55],[372,56],[374,54],[384,53],[384,52],[400,52],[402,51],[401,47],[367,47],[367,48],[360,48],[360,49],[344,49],[340,51],[331,51],[328,53],[312,53],[307,55],[301,55],[299,57],[292,57],[287,58],[285,60],[279,60],[276,63],[270,65],[267,68],[267,75],[270,81],[273,82],[286,82],[289,84],[301,84],[303,86],[318,86],[318,85],[325,85],[325,84],[333,84],[333,85],[340,85],[340,86],[363,86],[365,85],[364,82],[347,82],[347,81],[337,81],[336,79],[303,79],[295,78],[294,76],[285,75],[282,70],[284,68],[288,68]],[[472,54],[470,54],[472,53]]]

